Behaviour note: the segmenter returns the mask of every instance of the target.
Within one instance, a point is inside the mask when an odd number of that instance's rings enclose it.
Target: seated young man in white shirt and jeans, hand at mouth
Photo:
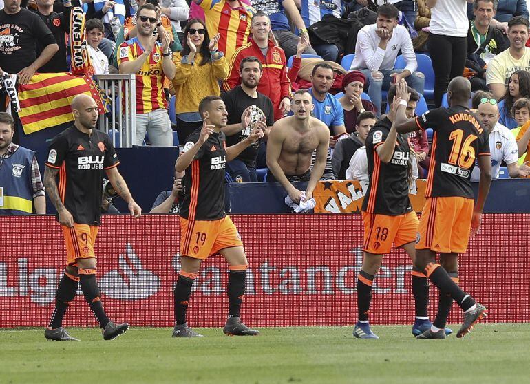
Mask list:
[[[368,83],[368,96],[381,111],[381,90],[388,90],[390,83],[402,78],[423,94],[425,76],[415,72],[418,67],[410,35],[403,25],[398,25],[399,11],[392,4],[377,9],[375,24],[365,25],[357,35],[352,70],[360,70]],[[394,70],[399,51],[405,57],[404,70]]]

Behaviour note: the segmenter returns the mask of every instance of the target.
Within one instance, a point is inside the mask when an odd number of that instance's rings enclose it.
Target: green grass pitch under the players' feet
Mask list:
[[[458,330],[458,326],[452,326]],[[103,341],[46,341],[42,329],[0,330],[0,383],[530,383],[529,324],[478,324],[465,339],[416,340],[409,326],[259,328],[258,337],[173,339],[170,328],[131,328]]]

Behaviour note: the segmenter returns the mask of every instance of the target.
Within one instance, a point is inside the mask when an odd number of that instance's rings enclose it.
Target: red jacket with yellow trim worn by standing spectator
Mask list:
[[[228,91],[241,84],[240,63],[248,56],[255,56],[262,63],[263,74],[257,86],[257,92],[271,99],[274,107],[274,120],[279,120],[283,117],[282,111],[279,110],[279,103],[284,97],[291,96],[290,81],[287,77],[284,50],[274,45],[272,41],[268,42],[266,57],[263,56],[262,50],[253,39],[249,39],[247,44],[235,51],[229,66],[229,76],[223,81],[223,88]]]

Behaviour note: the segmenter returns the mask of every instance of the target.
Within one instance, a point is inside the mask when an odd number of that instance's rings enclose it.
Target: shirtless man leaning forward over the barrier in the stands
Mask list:
[[[282,184],[296,204],[304,192],[291,182],[309,181],[305,191],[305,200],[309,200],[326,167],[330,130],[324,122],[310,116],[314,107],[307,89],[295,92],[291,107],[294,116],[275,122],[267,141],[267,181]],[[315,149],[317,158],[311,172]]]

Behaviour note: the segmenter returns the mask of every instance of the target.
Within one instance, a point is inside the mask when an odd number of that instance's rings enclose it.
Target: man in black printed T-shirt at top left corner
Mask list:
[[[18,74],[19,84],[27,84],[36,70],[59,51],[59,45],[39,16],[20,7],[20,0],[4,1],[3,10],[0,10],[0,25],[6,33],[0,45],[0,74]],[[37,42],[43,47],[38,56]],[[0,109],[4,110],[5,103],[0,105]]]

